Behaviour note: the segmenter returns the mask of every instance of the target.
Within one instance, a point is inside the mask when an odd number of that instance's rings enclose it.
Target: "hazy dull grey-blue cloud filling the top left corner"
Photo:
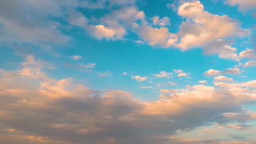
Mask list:
[[[0,32],[4,37],[0,39],[11,43],[67,45],[71,38],[59,31],[59,23],[50,19],[50,16],[63,16],[61,5],[74,7],[75,3],[29,0],[1,2]]]

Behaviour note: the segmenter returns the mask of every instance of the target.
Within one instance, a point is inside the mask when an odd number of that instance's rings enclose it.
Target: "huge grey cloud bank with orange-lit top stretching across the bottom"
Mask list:
[[[166,143],[166,133],[174,135],[179,129],[218,121],[222,113],[225,118],[227,113],[256,99],[254,93],[196,85],[165,95],[165,99],[140,101],[124,91],[101,92],[71,79],[50,79],[40,70],[32,74],[37,76],[24,75],[21,70],[1,70],[0,125],[8,130],[1,132],[1,142]],[[254,86],[253,82],[241,85]],[[168,136],[168,141],[204,140]]]

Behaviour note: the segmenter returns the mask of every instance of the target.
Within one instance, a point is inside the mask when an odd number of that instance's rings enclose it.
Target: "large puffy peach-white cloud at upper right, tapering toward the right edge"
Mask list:
[[[177,33],[181,37],[178,47],[183,51],[199,46],[208,55],[218,53],[220,58],[238,61],[236,49],[226,45],[223,42],[226,40],[222,38],[237,35],[244,37],[250,33],[249,29],[242,29],[236,20],[226,15],[214,15],[204,11],[199,1],[185,2],[179,7],[178,14],[187,18]]]

